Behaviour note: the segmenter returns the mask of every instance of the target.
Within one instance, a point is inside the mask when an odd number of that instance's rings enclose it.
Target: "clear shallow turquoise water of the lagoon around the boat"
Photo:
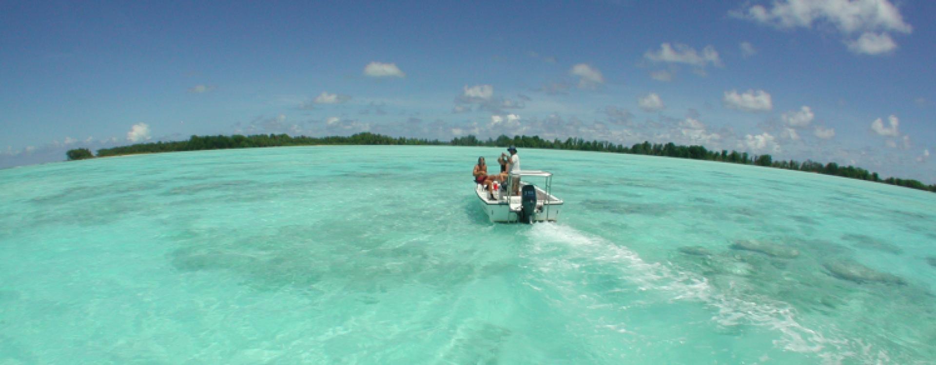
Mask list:
[[[494,225],[474,147],[183,152],[0,171],[0,363],[916,364],[936,194],[520,151],[556,224]]]

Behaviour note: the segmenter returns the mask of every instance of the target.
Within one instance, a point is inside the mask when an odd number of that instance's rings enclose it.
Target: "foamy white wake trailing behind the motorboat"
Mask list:
[[[555,279],[550,283],[558,283],[563,287],[560,290],[575,300],[588,297],[587,300],[592,302],[590,308],[607,304],[606,307],[627,311],[636,305],[701,303],[708,308],[711,315],[709,323],[715,325],[713,330],[718,333],[753,326],[776,333],[771,336],[775,347],[814,356],[822,363],[891,363],[886,351],[875,350],[860,340],[846,339],[833,325],[818,324],[814,328],[804,325],[803,320],[797,317],[796,309],[788,303],[744,295],[731,288],[716,288],[701,274],[680,271],[668,262],[643,260],[619,243],[562,224],[536,224],[527,234],[533,243],[530,259],[538,266],[536,269],[550,277],[577,277],[578,280]],[[594,286],[590,281],[607,282],[608,275],[615,276],[616,280],[610,285],[619,288],[603,288],[601,291],[590,288]],[[607,297],[607,293],[615,291],[643,292],[629,299],[651,299],[615,303]],[[628,328],[627,323],[605,323],[603,326]],[[711,330],[711,326],[708,327]]]

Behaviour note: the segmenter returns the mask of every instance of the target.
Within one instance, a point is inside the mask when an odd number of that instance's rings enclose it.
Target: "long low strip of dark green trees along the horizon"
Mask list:
[[[136,153],[193,151],[202,149],[246,148],[246,147],[283,147],[283,146],[315,146],[315,145],[406,145],[406,146],[474,146],[474,147],[507,147],[514,145],[525,148],[554,148],[573,149],[583,151],[630,153],[639,155],[665,156],[680,159],[722,161],[743,164],[753,164],[765,167],[774,167],[787,170],[798,170],[818,174],[837,175],[857,178],[885,184],[918,190],[936,192],[936,184],[925,185],[914,179],[887,177],[882,179],[877,173],[855,166],[839,166],[835,162],[826,164],[816,161],[773,161],[770,155],[750,156],[747,152],[710,151],[701,146],[676,146],[673,143],[651,144],[638,143],[631,147],[615,145],[605,141],[585,141],[581,138],[568,138],[565,141],[555,139],[552,141],[538,136],[516,135],[513,138],[501,135],[496,139],[479,140],[474,135],[456,137],[450,142],[427,140],[417,138],[394,138],[375,133],[357,133],[350,136],[331,137],[292,137],[288,134],[256,134],[241,135],[193,135],[187,141],[141,143],[124,147],[101,148],[97,150],[97,157],[120,156]],[[68,160],[90,158],[91,152],[87,148],[71,149],[67,152]]]

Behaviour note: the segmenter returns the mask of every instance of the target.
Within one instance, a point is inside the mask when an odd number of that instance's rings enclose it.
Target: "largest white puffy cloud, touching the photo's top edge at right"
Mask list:
[[[776,0],[770,7],[753,5],[730,15],[781,29],[832,26],[848,38],[856,53],[882,54],[897,48],[887,32],[910,34],[913,27],[903,21],[897,7],[888,0]]]

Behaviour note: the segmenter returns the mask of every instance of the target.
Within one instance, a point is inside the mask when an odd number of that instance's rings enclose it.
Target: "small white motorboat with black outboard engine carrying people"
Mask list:
[[[535,185],[533,181],[537,180],[542,181],[542,184]],[[495,181],[495,184],[493,191],[489,191],[483,184],[475,184],[475,194],[481,209],[484,209],[491,222],[554,222],[559,218],[563,200],[551,193],[551,173],[524,170],[519,176],[510,175],[506,181]]]

